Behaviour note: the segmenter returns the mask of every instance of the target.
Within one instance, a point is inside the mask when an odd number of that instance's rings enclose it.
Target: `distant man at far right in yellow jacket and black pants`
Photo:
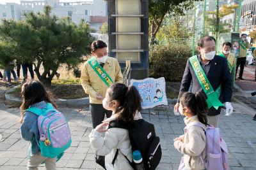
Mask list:
[[[244,65],[246,64],[246,49],[250,47],[247,39],[246,34],[241,34],[241,39],[239,40],[239,57],[237,58],[236,62],[236,74],[238,67],[240,66],[240,72],[239,72],[239,79],[244,80],[243,73],[244,73]]]

